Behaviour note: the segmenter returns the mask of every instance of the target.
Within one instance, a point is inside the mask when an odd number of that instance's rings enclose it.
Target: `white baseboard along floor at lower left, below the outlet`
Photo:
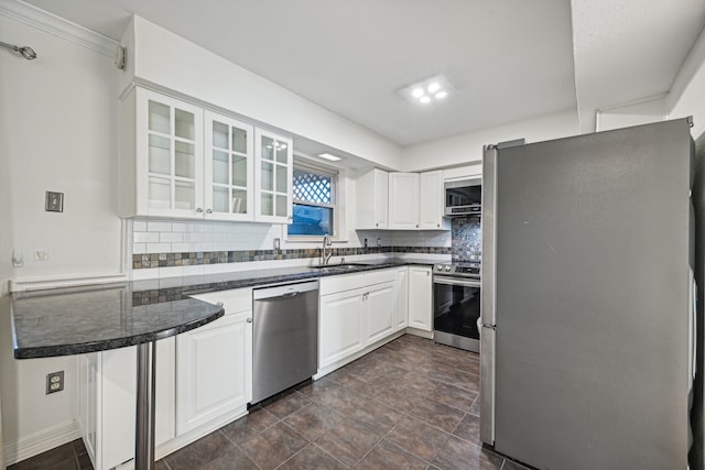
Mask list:
[[[75,419],[59,423],[3,446],[6,464],[20,462],[80,437]]]

